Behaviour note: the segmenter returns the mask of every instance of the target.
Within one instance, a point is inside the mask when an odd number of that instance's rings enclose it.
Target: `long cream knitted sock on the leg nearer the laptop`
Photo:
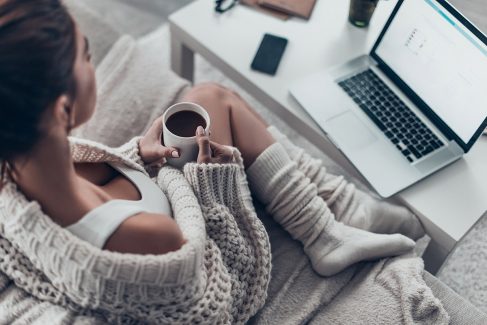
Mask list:
[[[294,145],[277,128],[270,126],[268,130],[284,146],[298,168],[316,184],[318,195],[326,201],[338,221],[375,233],[400,233],[414,240],[424,236],[423,226],[411,211],[377,200],[356,189],[343,176],[329,174],[321,160]]]

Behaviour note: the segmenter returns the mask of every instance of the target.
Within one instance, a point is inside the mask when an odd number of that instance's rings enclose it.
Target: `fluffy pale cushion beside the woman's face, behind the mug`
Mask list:
[[[169,28],[161,26],[139,40],[122,36],[96,69],[98,99],[94,116],[73,135],[119,146],[142,135],[189,82],[169,66]]]

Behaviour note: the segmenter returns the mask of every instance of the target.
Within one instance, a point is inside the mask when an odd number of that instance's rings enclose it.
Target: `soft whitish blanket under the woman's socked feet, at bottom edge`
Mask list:
[[[448,324],[414,256],[359,263],[333,277],[315,273],[301,245],[257,209],[272,248],[265,306],[251,324]]]

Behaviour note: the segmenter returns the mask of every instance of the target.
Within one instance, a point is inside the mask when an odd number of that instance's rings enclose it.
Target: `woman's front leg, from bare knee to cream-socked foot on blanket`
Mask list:
[[[316,186],[297,170],[283,147],[269,148],[275,140],[267,124],[231,90],[203,84],[194,87],[184,100],[207,110],[214,141],[240,150],[254,194],[267,205],[274,219],[303,243],[318,273],[331,275],[355,262],[401,254],[414,246],[414,242],[401,235],[373,234],[337,223],[325,201],[317,195]],[[256,161],[264,151],[284,162],[285,167],[266,165],[265,158]],[[266,172],[260,173],[261,170]],[[283,183],[291,186],[282,187]],[[273,193],[272,197],[269,193]],[[303,193],[307,195],[302,196]],[[276,199],[286,204],[271,204]]]

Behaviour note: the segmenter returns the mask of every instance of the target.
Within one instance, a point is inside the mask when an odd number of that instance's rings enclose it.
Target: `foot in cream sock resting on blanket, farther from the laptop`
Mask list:
[[[304,251],[316,272],[331,276],[357,262],[401,255],[414,246],[403,235],[374,234],[335,222]]]

